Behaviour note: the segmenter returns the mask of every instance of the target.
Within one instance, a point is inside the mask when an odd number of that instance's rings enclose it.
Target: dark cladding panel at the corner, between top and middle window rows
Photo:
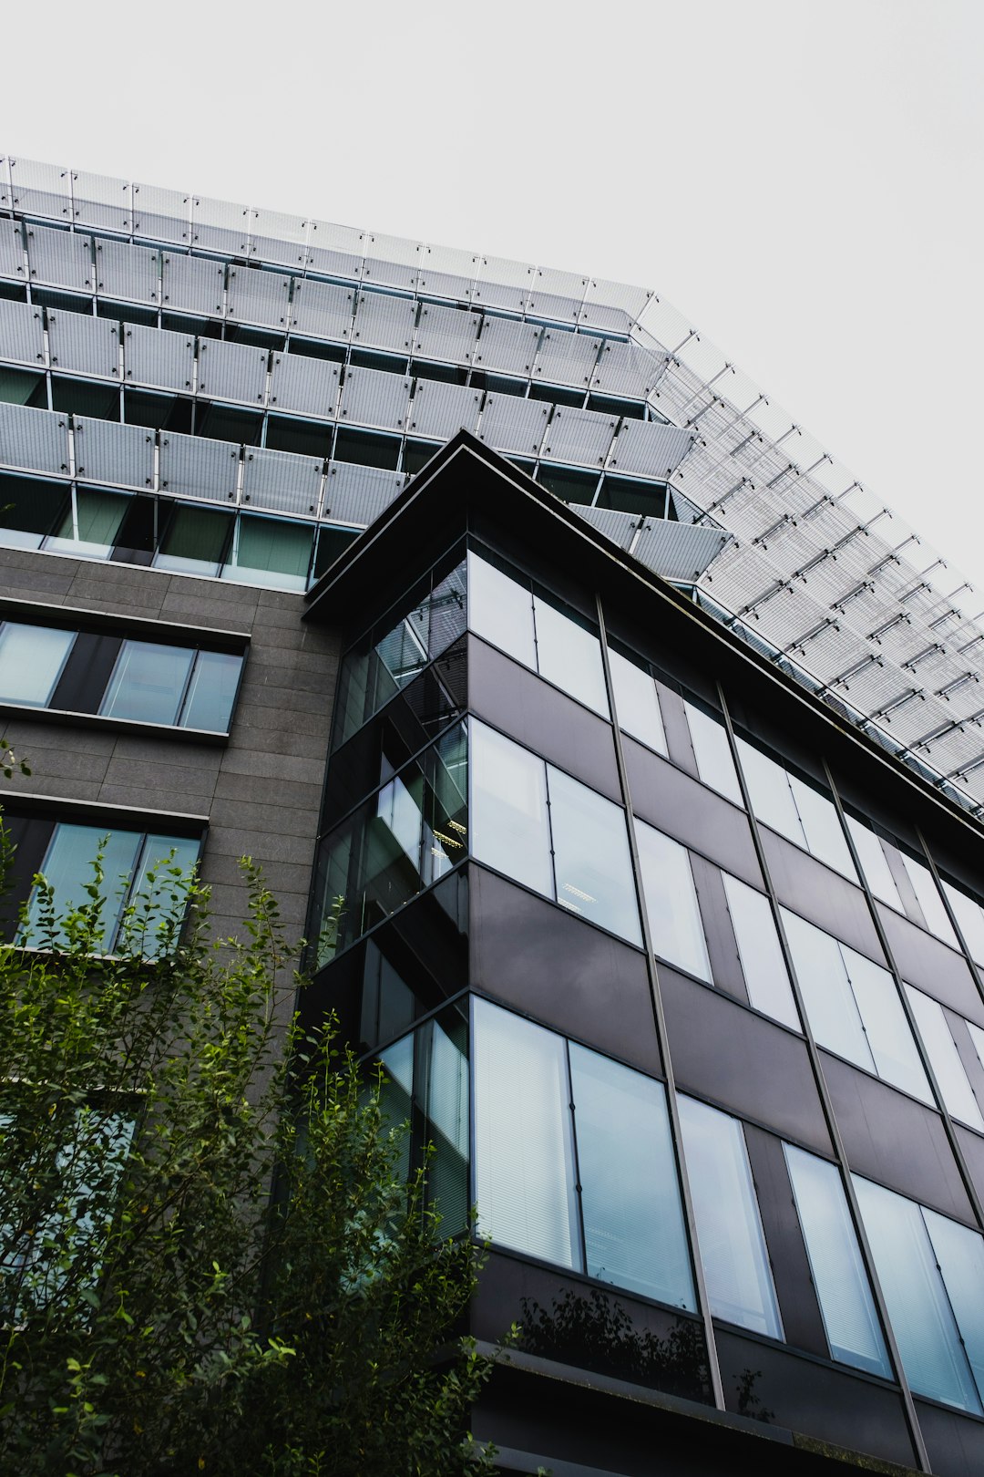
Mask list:
[[[478,718],[621,801],[611,724],[477,637],[468,640],[468,699]]]

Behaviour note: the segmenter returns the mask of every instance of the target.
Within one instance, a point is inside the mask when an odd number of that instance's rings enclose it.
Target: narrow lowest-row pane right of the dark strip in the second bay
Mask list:
[[[803,1239],[823,1315],[831,1354],[845,1365],[891,1380],[875,1300],[832,1164],[783,1143]]]

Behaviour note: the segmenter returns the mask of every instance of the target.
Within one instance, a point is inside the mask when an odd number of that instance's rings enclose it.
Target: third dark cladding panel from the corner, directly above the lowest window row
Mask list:
[[[820,1056],[851,1170],[972,1226],[940,1115],[828,1052]]]

